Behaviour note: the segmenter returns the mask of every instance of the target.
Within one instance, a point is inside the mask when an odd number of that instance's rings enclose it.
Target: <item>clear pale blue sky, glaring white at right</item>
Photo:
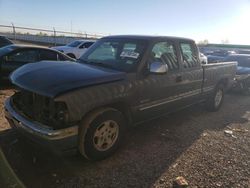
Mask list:
[[[0,25],[250,45],[250,0],[0,0]]]

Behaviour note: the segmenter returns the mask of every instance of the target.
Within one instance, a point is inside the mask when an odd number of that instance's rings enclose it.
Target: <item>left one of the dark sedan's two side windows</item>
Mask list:
[[[22,50],[6,56],[5,62],[33,63],[38,60],[37,50]]]

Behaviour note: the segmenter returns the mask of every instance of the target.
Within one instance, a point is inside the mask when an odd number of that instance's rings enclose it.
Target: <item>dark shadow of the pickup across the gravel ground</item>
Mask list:
[[[60,157],[48,153],[17,138],[13,131],[0,133],[0,145],[27,187],[151,187],[204,131],[247,122],[244,115],[250,103],[244,101],[231,94],[219,112],[209,113],[196,105],[133,127],[122,147],[98,162],[79,154]]]

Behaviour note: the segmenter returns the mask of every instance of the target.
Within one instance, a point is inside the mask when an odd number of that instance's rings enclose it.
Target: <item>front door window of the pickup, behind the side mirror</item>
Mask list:
[[[179,69],[176,50],[174,45],[170,42],[156,43],[150,54],[150,61],[163,62],[168,65],[170,71]]]

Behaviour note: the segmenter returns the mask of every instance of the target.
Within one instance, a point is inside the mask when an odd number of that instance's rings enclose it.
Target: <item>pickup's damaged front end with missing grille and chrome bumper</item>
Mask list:
[[[13,129],[46,148],[68,152],[77,146],[78,125],[69,122],[64,102],[19,90],[6,100],[5,117]]]

